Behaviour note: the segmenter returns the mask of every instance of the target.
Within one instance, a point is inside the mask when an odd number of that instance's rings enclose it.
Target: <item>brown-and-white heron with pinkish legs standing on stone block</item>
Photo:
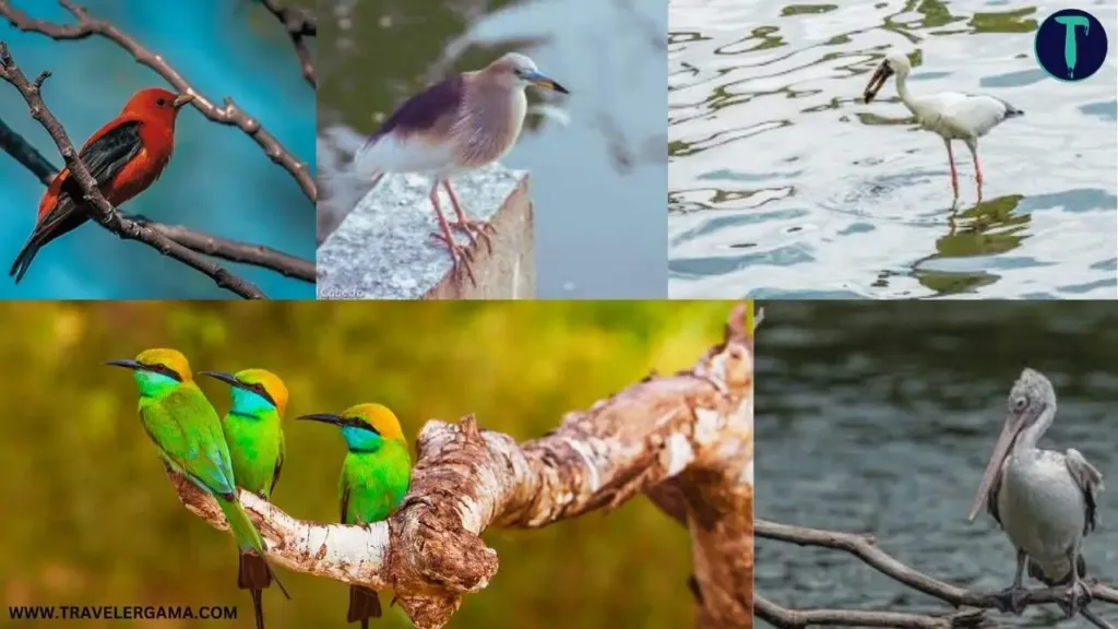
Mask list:
[[[504,157],[517,142],[524,124],[532,85],[567,94],[548,78],[536,63],[519,53],[509,53],[477,72],[467,72],[436,83],[406,101],[357,152],[358,176],[379,181],[389,172],[418,172],[432,177],[428,198],[439,231],[433,234],[451,251],[454,264],[473,279],[467,257],[454,240],[438,205],[439,184],[451,197],[457,216],[454,227],[463,229],[473,245],[477,236],[489,242],[484,220],[466,218],[451,178]]]

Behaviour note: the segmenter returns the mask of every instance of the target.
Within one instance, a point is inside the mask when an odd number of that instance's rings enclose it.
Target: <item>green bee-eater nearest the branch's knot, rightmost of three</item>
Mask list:
[[[371,524],[387,519],[396,510],[411,481],[411,456],[404,440],[400,422],[380,404],[359,404],[340,415],[303,415],[337,425],[349,451],[338,482],[342,524]],[[368,629],[370,618],[380,618],[377,592],[350,585],[347,622],[361,621]]]

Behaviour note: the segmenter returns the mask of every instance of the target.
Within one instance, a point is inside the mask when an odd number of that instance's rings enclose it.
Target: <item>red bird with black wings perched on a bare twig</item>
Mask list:
[[[172,94],[149,87],[135,93],[120,115],[94,133],[78,156],[108,203],[114,207],[148,189],[159,179],[174,149],[174,118],[191,94]],[[9,275],[23,279],[42,245],[89,219],[82,188],[64,168],[47,186],[39,201],[39,217],[31,236],[16,256]]]

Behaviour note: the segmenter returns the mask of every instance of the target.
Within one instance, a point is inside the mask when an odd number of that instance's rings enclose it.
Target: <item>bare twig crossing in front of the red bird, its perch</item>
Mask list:
[[[97,189],[97,182],[89,175],[85,165],[78,159],[77,150],[74,149],[74,144],[66,137],[63,125],[50,113],[50,110],[47,109],[47,105],[42,102],[42,97],[39,95],[39,88],[49,76],[50,73],[44,71],[35,79],[35,83],[29,82],[19,69],[19,66],[16,65],[16,62],[12,60],[11,54],[8,51],[8,45],[0,41],[0,78],[19,90],[19,93],[27,101],[27,105],[31,111],[31,118],[39,121],[44,129],[47,130],[47,133],[50,134],[63,159],[66,160],[66,166],[69,168],[70,175],[82,188],[84,199],[94,209],[93,217],[104,225],[105,228],[122,238],[140,241],[163,255],[171,256],[183,264],[201,271],[222,289],[246,299],[264,299],[264,293],[258,288],[237,278],[225,267],[201,257],[154,229],[144,227],[134,220],[123,218],[117,214],[116,209],[105,200],[101,190]]]

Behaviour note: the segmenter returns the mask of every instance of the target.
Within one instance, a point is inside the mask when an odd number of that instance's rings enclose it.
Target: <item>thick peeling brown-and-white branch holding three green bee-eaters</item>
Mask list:
[[[411,487],[387,522],[322,525],[247,491],[240,500],[272,560],[392,590],[415,626],[430,629],[496,574],[486,528],[542,527],[665,487],[679,492],[678,517],[694,541],[697,626],[752,627],[752,355],[738,335],[743,323],[728,329],[694,368],[650,376],[533,441],[480,430],[473,415],[427,422]],[[207,494],[171,479],[191,511],[226,528]]]

